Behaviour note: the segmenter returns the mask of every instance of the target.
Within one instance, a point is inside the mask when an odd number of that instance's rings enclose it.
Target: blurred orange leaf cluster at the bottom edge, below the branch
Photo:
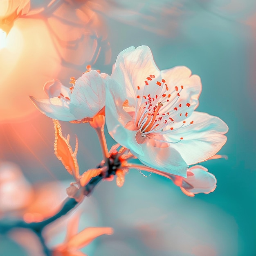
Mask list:
[[[111,227],[88,227],[77,233],[79,218],[72,218],[67,224],[67,235],[65,242],[53,249],[53,256],[86,256],[78,249],[85,247],[95,238],[102,235],[112,235]]]

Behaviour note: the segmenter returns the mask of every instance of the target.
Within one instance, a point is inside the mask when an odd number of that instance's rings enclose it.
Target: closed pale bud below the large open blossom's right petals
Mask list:
[[[181,186],[182,191],[187,191],[189,194],[209,194],[213,192],[217,186],[215,176],[209,173],[207,168],[200,165],[189,168],[187,171],[187,178],[183,180],[185,183]]]

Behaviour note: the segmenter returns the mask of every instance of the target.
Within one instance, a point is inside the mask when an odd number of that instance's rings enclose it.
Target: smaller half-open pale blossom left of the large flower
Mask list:
[[[109,78],[107,74],[90,70],[73,81],[70,88],[54,79],[44,85],[49,99],[32,96],[30,99],[47,117],[61,121],[91,121],[105,107],[105,83]]]

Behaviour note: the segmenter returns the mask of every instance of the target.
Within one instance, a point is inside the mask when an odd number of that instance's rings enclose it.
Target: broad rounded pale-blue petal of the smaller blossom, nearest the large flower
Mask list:
[[[96,70],[84,73],[76,80],[70,96],[70,112],[76,119],[94,117],[105,106],[105,87],[109,76]]]

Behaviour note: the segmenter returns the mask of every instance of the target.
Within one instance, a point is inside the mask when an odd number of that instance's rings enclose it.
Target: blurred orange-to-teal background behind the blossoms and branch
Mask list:
[[[160,70],[185,65],[201,77],[198,111],[229,126],[220,150],[228,160],[202,164],[216,175],[217,188],[195,198],[171,180],[136,170],[121,188],[101,182],[79,207],[80,226],[109,226],[115,234],[83,252],[255,256],[255,0],[1,0],[0,216],[49,216],[72,182],[54,155],[52,120],[28,95],[45,98],[43,85],[54,78],[69,86],[88,64],[111,74],[119,52],[139,45],[150,47]],[[97,166],[102,157],[94,130],[61,124],[72,145],[78,136],[80,172]],[[110,148],[114,141],[106,136]],[[49,246],[63,241],[66,219],[45,231]],[[26,232],[0,235],[0,255],[40,255]]]

